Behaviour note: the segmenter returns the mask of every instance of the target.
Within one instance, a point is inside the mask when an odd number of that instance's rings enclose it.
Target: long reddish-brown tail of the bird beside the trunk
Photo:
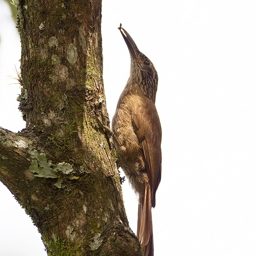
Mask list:
[[[144,251],[144,256],[154,256],[151,191],[149,184],[146,185],[144,197],[139,197],[137,237]]]

